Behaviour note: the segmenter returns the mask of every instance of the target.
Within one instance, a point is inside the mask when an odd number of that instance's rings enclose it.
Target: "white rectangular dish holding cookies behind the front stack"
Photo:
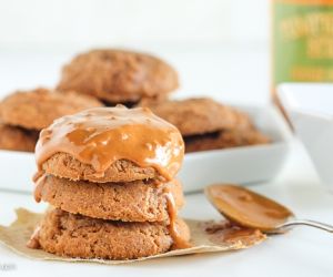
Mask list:
[[[255,125],[273,138],[272,144],[205,151],[185,155],[179,178],[184,192],[202,189],[212,183],[256,183],[273,178],[287,153],[291,133],[273,106],[238,106]],[[36,172],[33,154],[0,151],[0,188],[31,192]]]

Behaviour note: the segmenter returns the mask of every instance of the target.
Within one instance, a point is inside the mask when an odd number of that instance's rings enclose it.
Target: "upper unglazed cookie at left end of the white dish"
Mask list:
[[[101,105],[94,98],[73,92],[63,94],[47,89],[19,91],[0,102],[0,121],[9,125],[41,130],[60,116]]]

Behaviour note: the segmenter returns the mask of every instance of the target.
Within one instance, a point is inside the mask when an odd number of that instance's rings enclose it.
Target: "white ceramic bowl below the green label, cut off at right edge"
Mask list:
[[[333,84],[285,83],[278,94],[321,179],[333,186]]]

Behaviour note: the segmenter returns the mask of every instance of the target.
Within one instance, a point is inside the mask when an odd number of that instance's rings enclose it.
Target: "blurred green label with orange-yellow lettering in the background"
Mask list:
[[[333,6],[275,3],[274,84],[333,82]]]

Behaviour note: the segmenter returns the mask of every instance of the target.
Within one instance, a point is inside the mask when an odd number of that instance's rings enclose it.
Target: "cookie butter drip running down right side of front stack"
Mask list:
[[[173,182],[178,182],[178,181],[174,179]],[[163,194],[167,198],[167,208],[168,208],[169,220],[170,220],[168,227],[169,227],[170,236],[172,237],[173,240],[172,249],[189,248],[191,247],[190,243],[181,236],[176,226],[178,209],[176,209],[173,194],[171,193],[169,187],[164,188]]]

